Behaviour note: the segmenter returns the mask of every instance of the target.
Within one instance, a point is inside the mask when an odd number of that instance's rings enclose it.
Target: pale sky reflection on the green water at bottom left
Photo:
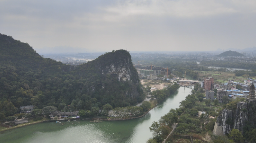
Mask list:
[[[104,133],[96,127],[96,124],[89,124],[47,133],[37,131],[24,143],[113,143],[113,139],[115,139],[113,134]]]

